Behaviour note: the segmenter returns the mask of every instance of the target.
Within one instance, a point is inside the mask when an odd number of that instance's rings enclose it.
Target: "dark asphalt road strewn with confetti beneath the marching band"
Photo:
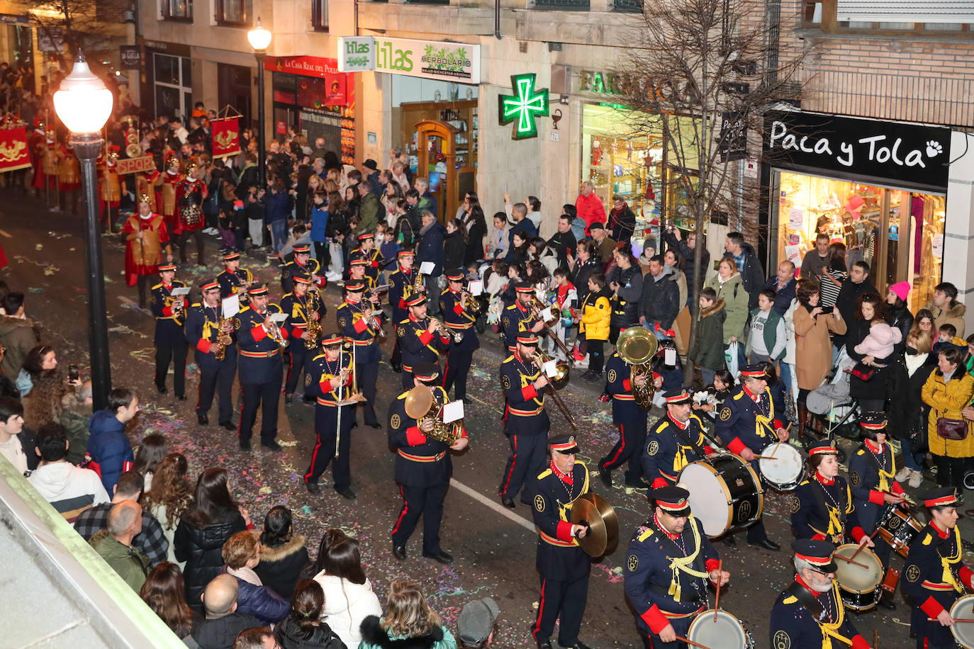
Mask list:
[[[43,342],[56,346],[61,367],[74,363],[82,367],[85,375],[88,325],[82,219],[49,212],[42,201],[24,198],[9,189],[0,189],[0,198],[0,245],[10,258],[10,266],[0,270],[0,278],[28,294],[27,314],[40,322]],[[199,286],[218,272],[215,241],[207,237],[208,267],[180,268],[176,277]],[[424,588],[432,608],[452,626],[466,601],[493,596],[502,609],[494,646],[534,646],[530,626],[539,598],[540,581],[535,569],[538,536],[527,507],[518,504],[511,512],[497,498],[508,445],[501,427],[503,397],[497,380],[504,354],[496,336],[488,332],[481,337],[481,348],[474,354],[468,387],[473,404],[468,406],[465,419],[470,447],[454,458],[454,482],[446,499],[442,545],[454,554],[456,562],[442,566],[420,556],[422,523],[407,547],[408,558],[400,562],[392,557],[389,534],[401,500],[393,483],[393,453],[389,451],[385,430],[359,426],[353,432],[353,488],[358,497],[350,502],[330,488],[330,472],[322,477],[325,488],[318,495],[309,494],[302,484],[300,476],[315,443],[312,406],[296,403],[284,408],[281,399],[281,453],[260,449],[256,439],[255,451],[239,451],[236,434],[217,427],[214,412],[210,414],[210,426],[199,426],[193,412],[199,372],[195,365],[189,366],[190,398],[186,402],[172,398],[171,378],[169,395],[156,393],[152,379],[153,318],[137,308],[133,302],[137,299],[135,288],[124,283],[124,247],[118,237],[104,236],[102,249],[113,383],[135,387],[144,405],[130,428],[133,446],[144,435],[161,432],[169,437],[173,449],[187,456],[194,475],[208,466],[226,467],[231,472],[236,496],[248,507],[258,526],[274,505],[282,503],[292,509],[296,531],[307,537],[313,557],[325,528],[340,527],[354,534],[361,541],[366,572],[381,599],[393,581],[416,581]],[[191,259],[195,260],[195,254]],[[275,301],[280,299],[280,272],[276,266],[269,267],[263,255],[248,258],[244,266],[260,279],[271,281],[272,296]],[[339,300],[337,289],[329,287],[327,296],[329,313],[325,322],[333,323]],[[325,331],[328,329],[325,326]],[[391,341],[384,344],[387,358],[391,345]],[[581,371],[574,374],[580,375]],[[383,364],[377,405],[380,418],[400,388],[399,375]],[[579,421],[580,458],[590,467],[618,437],[612,425],[611,406],[596,400],[598,391],[596,386],[573,379],[561,392]],[[565,420],[553,404],[549,409],[552,432],[566,431]],[[622,566],[625,546],[649,515],[649,507],[642,490],[620,487],[621,482],[621,471],[617,471],[617,487],[607,492],[593,471],[593,490],[615,507],[620,537],[615,553],[592,566],[581,639],[596,648],[642,646],[623,595]],[[783,546],[781,552],[749,547],[743,535],[738,535],[736,548],[717,545],[724,569],[731,572],[731,584],[721,595],[721,607],[743,621],[757,647],[769,646],[771,605],[794,573],[787,552],[792,538],[787,522],[789,506],[787,494],[766,494],[768,534]],[[961,523],[966,538],[971,538],[970,521],[966,518]],[[900,563],[901,559],[893,559],[894,566]],[[713,594],[710,601],[712,605]],[[909,616],[909,607],[900,597],[895,611],[880,609],[854,616],[854,624],[870,641],[874,630],[879,630],[882,647],[906,647],[915,642],[908,637]]]

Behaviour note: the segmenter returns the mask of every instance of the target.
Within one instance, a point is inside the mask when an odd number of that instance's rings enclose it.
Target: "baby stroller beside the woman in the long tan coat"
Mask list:
[[[854,366],[855,361],[848,357],[843,347],[832,376],[805,398],[805,408],[811,415],[805,425],[806,433],[829,442],[834,442],[837,435],[847,440],[859,439],[859,405],[849,396],[849,375],[845,372],[846,368]],[[810,444],[810,440],[805,438],[803,444]],[[845,461],[842,449],[839,461]]]

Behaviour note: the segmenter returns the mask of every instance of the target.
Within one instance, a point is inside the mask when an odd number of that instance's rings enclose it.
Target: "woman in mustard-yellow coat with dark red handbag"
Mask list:
[[[970,406],[974,397],[974,377],[964,370],[964,352],[955,345],[947,345],[937,352],[937,369],[923,383],[921,397],[930,407],[926,435],[937,466],[937,481],[941,487],[956,487],[963,494],[964,471],[974,456],[974,434],[971,422],[961,411]],[[967,423],[962,440],[950,440],[937,434],[937,419],[945,417]],[[962,496],[961,496],[962,497]]]

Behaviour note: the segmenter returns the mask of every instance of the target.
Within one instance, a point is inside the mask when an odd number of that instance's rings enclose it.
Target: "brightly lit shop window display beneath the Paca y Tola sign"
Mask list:
[[[909,306],[916,310],[929,302],[943,276],[944,197],[786,171],[775,175],[778,260],[801,267],[815,236],[827,234],[845,244],[848,266],[869,264],[880,292],[909,281]]]

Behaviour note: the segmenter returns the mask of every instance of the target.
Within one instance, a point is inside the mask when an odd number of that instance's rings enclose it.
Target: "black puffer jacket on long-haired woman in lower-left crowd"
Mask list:
[[[186,518],[179,520],[172,537],[177,561],[186,561],[183,578],[186,581],[186,603],[195,611],[202,611],[200,595],[206,584],[223,567],[223,544],[237,532],[246,529],[244,517],[237,510],[225,512],[205,527],[198,527]]]

